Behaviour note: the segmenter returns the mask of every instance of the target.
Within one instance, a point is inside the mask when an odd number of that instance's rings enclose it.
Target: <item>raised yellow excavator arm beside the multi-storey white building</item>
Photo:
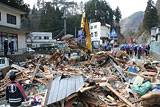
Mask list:
[[[89,32],[89,27],[88,27],[88,22],[86,19],[86,14],[83,13],[82,14],[82,20],[81,20],[81,28],[82,31],[84,32],[84,30],[86,31],[86,48],[85,49],[81,49],[81,54],[89,54],[92,52],[92,45],[91,45],[91,37],[90,37],[90,32]]]

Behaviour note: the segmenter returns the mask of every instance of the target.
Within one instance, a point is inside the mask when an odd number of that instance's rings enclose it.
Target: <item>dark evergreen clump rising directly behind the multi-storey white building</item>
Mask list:
[[[101,23],[113,25],[114,12],[105,0],[90,0],[85,4],[88,20],[94,19]]]

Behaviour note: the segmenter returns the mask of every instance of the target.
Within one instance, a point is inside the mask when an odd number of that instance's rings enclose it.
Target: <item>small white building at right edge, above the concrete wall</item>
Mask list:
[[[151,29],[151,41],[160,41],[160,27]]]

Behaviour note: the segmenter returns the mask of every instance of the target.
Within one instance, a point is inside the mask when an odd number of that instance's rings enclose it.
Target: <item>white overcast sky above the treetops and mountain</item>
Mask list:
[[[45,1],[52,1],[52,0],[45,0]],[[88,0],[66,0],[66,1],[86,2]],[[112,9],[116,9],[116,7],[119,6],[122,13],[122,18],[125,18],[137,11],[145,11],[148,0],[106,0],[106,1],[110,4]],[[157,0],[153,1],[156,3]],[[30,4],[30,7],[32,8],[33,5],[36,4],[37,0],[24,0],[24,2]]]

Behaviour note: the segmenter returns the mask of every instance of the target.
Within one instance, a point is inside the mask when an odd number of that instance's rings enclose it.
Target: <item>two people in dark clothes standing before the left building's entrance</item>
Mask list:
[[[6,56],[8,53],[8,39],[7,38],[4,40],[3,46],[4,46],[4,55]],[[11,40],[11,42],[9,42],[9,49],[12,55],[14,51],[14,40],[13,39]]]

